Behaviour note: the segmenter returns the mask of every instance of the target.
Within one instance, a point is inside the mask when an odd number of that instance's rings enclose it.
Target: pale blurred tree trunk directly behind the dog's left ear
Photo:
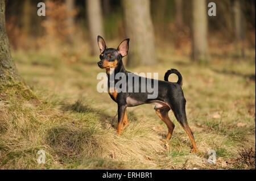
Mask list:
[[[98,55],[99,48],[97,43],[97,36],[103,36],[102,27],[102,10],[100,0],[86,0],[87,15],[90,30],[90,41],[92,45],[92,54],[94,56]]]

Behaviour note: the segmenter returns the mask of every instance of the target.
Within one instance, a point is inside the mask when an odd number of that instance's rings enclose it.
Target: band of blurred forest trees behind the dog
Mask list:
[[[46,16],[36,15],[38,2],[46,3]],[[208,16],[209,2],[216,3],[217,16]],[[14,49],[63,53],[72,48],[95,56],[97,35],[109,47],[130,37],[129,66],[156,64],[159,49],[197,62],[217,54],[246,57],[255,49],[253,0],[9,0],[6,22]]]

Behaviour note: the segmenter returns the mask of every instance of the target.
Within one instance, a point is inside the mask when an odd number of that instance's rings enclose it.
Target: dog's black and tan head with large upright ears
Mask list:
[[[129,40],[123,40],[117,49],[106,47],[106,43],[101,36],[98,36],[98,47],[100,48],[100,61],[98,62],[98,66],[101,69],[115,69],[119,61],[122,60],[122,57],[125,57],[128,53],[129,49]]]

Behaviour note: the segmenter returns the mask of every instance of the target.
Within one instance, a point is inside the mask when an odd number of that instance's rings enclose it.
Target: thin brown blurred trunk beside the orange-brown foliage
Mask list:
[[[75,21],[74,21],[74,16],[73,16],[73,12],[74,12],[74,6],[75,6],[75,2],[74,0],[66,0],[65,1],[66,6],[67,6],[67,27],[68,27],[68,36],[67,36],[67,40],[68,43],[73,43],[73,34],[75,33]]]

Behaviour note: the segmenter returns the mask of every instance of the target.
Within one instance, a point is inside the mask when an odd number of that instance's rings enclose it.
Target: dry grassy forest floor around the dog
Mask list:
[[[159,79],[170,68],[181,72],[199,149],[192,154],[171,112],[176,127],[164,140],[166,125],[150,104],[127,108],[129,125],[115,134],[117,105],[96,89],[104,71],[98,57],[12,53],[32,91],[18,83],[0,86],[0,169],[255,169],[255,54],[199,65],[159,50],[158,65],[128,69],[158,72]],[[38,150],[45,151],[45,164],[38,164]],[[215,164],[207,161],[210,150]]]

